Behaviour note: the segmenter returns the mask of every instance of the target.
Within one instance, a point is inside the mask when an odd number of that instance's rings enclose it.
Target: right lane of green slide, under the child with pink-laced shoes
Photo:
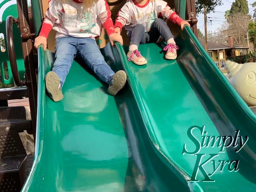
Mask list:
[[[139,51],[148,61],[143,66],[128,62],[127,48],[124,50],[120,44],[117,45],[130,88],[155,150],[162,161],[188,181],[191,180],[198,157],[182,154],[184,144],[187,151],[195,150],[197,142],[193,142],[187,133],[190,127],[205,126],[207,134],[203,135],[216,137],[235,138],[235,130],[240,130],[243,142],[245,136],[250,139],[238,153],[235,152],[238,147],[232,146],[219,153],[217,145],[202,147],[198,153],[205,154],[201,163],[210,154],[218,154],[212,159],[215,162],[204,165],[207,174],[213,173],[213,163],[217,167],[222,160],[239,160],[239,170],[230,172],[226,164],[223,171],[219,167],[211,176],[210,179],[215,182],[203,182],[208,178],[198,169],[196,179],[199,181],[188,182],[188,186],[190,191],[244,191],[245,188],[246,191],[256,191],[254,113],[205,53],[188,27],[179,34],[176,42],[180,47],[179,57],[172,61],[166,60],[162,53],[165,44],[140,45]],[[193,134],[199,142],[202,141],[199,129]]]

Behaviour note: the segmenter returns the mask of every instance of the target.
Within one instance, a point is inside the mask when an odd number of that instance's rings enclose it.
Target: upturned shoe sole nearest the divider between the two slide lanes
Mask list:
[[[113,76],[113,85],[108,88],[108,92],[115,96],[118,91],[124,88],[126,79],[127,76],[123,70],[117,71]]]

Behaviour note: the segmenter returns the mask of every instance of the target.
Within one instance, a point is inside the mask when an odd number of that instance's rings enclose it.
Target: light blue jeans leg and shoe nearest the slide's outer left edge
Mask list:
[[[61,87],[76,55],[75,38],[63,37],[56,41],[53,69],[45,75],[46,90],[55,102],[63,99]]]

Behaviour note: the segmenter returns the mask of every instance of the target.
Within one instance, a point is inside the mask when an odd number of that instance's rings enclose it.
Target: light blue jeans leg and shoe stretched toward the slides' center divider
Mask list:
[[[109,84],[109,93],[115,95],[126,83],[124,71],[114,72],[105,62],[100,49],[92,38],[77,39],[78,54],[94,73],[105,83]]]

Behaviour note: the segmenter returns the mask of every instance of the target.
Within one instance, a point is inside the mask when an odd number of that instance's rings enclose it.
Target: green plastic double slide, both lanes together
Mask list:
[[[23,191],[256,191],[255,115],[189,28],[176,42],[174,61],[164,43],[141,45],[143,66],[120,44],[104,47],[108,64],[128,75],[116,97],[74,62],[58,103],[45,95],[52,61],[40,47],[35,157]]]

